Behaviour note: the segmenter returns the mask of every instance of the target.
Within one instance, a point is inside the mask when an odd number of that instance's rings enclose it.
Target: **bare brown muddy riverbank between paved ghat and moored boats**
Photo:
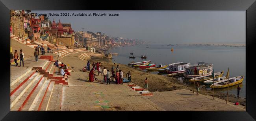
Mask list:
[[[106,67],[108,70],[111,70],[113,66],[114,69],[116,66],[111,62],[111,59],[107,59],[105,57],[93,57],[92,59],[88,60],[91,63],[93,62],[101,62],[102,67]],[[144,80],[148,78],[148,90],[150,92],[164,92],[164,91],[173,91],[173,90],[181,90],[187,89],[191,91],[195,91],[193,87],[188,87],[183,83],[179,82],[177,79],[172,77],[167,77],[164,75],[153,74],[149,72],[143,72],[137,68],[132,68],[130,66],[119,64],[119,70],[124,72],[124,77],[126,77],[126,73],[130,71],[132,73],[132,82],[144,87]],[[212,96],[212,91],[206,90],[204,86],[200,86],[199,94],[203,95],[210,95]],[[214,92],[214,97],[226,100],[226,93],[222,92]],[[246,106],[246,99],[245,98],[237,98],[236,95],[229,94],[228,101],[232,103],[239,102],[240,105]]]

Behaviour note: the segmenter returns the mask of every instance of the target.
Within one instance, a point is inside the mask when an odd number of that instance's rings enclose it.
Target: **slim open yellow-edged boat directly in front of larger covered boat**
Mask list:
[[[217,72],[217,73],[214,73],[214,78],[218,78],[218,77],[221,77],[223,75],[223,71],[222,72]],[[192,79],[189,79],[189,82],[193,83],[194,81],[197,82],[197,81],[200,81],[200,82],[203,82],[203,81],[206,81],[206,80],[209,80],[209,79],[212,79],[212,74],[208,74],[208,75],[203,75],[203,76],[200,76],[200,77],[195,77],[195,78],[192,78]]]

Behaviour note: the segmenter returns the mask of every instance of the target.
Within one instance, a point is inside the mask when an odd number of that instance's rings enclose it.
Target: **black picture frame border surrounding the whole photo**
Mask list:
[[[126,116],[141,119],[156,116],[169,117],[174,119],[193,120],[241,120],[249,121],[256,119],[256,83],[253,80],[254,45],[256,40],[256,2],[255,0],[127,0],[127,1],[89,1],[89,0],[0,0],[0,33],[2,38],[0,49],[6,58],[9,57],[9,10],[10,9],[36,9],[36,10],[246,10],[246,112],[121,112],[121,118]],[[7,30],[7,31],[6,31]],[[248,66],[247,66],[248,65]],[[53,120],[72,119],[82,117],[88,119],[97,114],[98,117],[113,119],[113,112],[10,112],[9,111],[9,60],[2,60],[1,88],[0,88],[0,119],[3,120]],[[7,71],[6,71],[7,69]],[[115,112],[116,113],[116,112]],[[154,114],[153,114],[154,113]],[[70,115],[71,114],[71,115]],[[152,114],[152,115],[151,115]],[[95,117],[95,116],[93,116]],[[96,118],[98,119],[96,116]],[[137,117],[136,117],[137,118]],[[118,118],[116,118],[118,119]]]

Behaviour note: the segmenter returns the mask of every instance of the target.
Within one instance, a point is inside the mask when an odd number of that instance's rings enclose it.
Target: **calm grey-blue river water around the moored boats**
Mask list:
[[[171,51],[173,48],[173,51]],[[245,47],[230,47],[230,46],[188,46],[188,45],[136,45],[119,48],[111,48],[108,52],[118,53],[113,55],[112,61],[116,61],[121,64],[128,64],[129,62],[143,61],[141,55],[146,55],[146,60],[152,60],[151,63],[156,64],[171,64],[175,62],[190,62],[190,64],[196,64],[196,62],[212,63],[214,72],[224,71],[223,76],[226,76],[228,68],[230,70],[230,77],[241,76],[246,73],[245,62]],[[135,59],[129,59],[130,53],[134,53]],[[158,72],[151,72],[158,73]],[[184,77],[178,77],[179,81],[184,82],[186,85],[193,86],[188,83]],[[246,97],[246,77],[243,83],[239,84],[241,87],[240,97]],[[229,93],[237,95],[237,85],[229,88]],[[207,88],[211,90],[211,88]],[[214,89],[214,91],[227,92],[227,88]]]

